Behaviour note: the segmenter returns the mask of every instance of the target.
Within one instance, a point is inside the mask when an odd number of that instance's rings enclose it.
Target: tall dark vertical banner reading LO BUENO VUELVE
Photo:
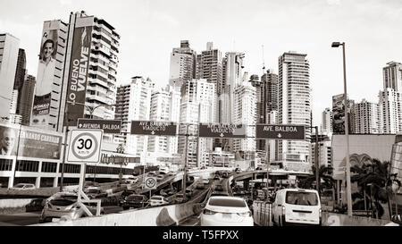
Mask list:
[[[70,126],[76,126],[77,120],[84,115],[84,106],[82,104],[85,104],[87,92],[91,39],[92,26],[74,29],[67,88],[67,107]]]

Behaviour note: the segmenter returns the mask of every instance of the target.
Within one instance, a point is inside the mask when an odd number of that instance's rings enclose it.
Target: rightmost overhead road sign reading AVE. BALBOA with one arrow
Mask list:
[[[256,124],[256,139],[306,139],[306,128],[304,125],[292,124]]]

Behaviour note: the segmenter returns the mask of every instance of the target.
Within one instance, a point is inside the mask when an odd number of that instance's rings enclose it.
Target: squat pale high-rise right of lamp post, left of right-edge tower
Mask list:
[[[381,110],[375,103],[367,102],[365,99],[354,105],[355,133],[356,134],[378,134],[381,133]]]

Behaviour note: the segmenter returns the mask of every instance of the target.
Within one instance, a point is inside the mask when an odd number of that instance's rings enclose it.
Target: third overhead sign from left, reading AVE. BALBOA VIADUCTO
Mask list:
[[[243,124],[200,123],[200,138],[245,139],[246,126]]]

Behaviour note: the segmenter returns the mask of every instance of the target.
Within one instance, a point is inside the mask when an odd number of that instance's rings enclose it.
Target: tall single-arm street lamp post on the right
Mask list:
[[[333,42],[331,47],[342,46],[343,51],[343,86],[344,86],[344,99],[345,99],[345,137],[347,139],[346,145],[346,178],[347,178],[347,198],[348,198],[348,215],[352,216],[352,192],[350,183],[350,162],[349,162],[349,128],[348,128],[348,90],[346,78],[346,57],[345,57],[345,42]]]

